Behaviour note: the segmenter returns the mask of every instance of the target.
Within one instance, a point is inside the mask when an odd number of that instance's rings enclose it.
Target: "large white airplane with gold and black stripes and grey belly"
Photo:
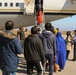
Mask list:
[[[76,14],[76,0],[42,0],[45,22],[55,21]],[[8,20],[15,28],[35,24],[35,0],[0,0],[0,29]],[[28,13],[33,15],[27,15]]]

